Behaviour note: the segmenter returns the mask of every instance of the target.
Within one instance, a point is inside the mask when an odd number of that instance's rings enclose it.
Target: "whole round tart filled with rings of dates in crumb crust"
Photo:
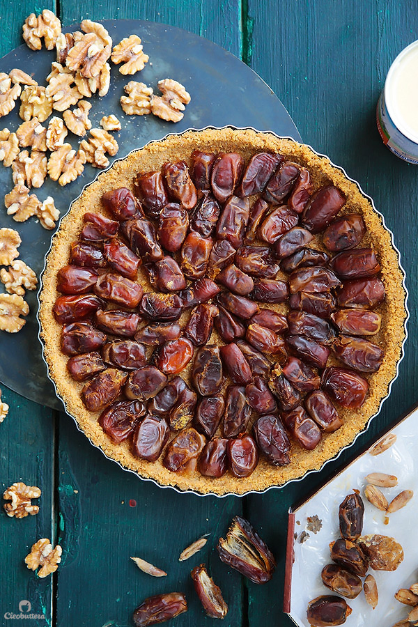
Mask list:
[[[398,253],[309,146],[233,128],[154,141],[72,203],[42,277],[49,375],[97,447],[224,495],[319,469],[396,377]]]

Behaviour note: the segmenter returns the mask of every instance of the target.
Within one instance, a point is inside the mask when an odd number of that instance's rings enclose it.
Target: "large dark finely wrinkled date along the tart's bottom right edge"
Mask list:
[[[254,424],[254,437],[258,448],[270,464],[285,466],[291,463],[291,442],[277,416],[261,416]]]

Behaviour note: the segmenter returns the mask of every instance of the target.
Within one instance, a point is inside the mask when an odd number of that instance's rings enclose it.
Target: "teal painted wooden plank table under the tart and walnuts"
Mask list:
[[[356,449],[418,400],[417,370],[417,191],[418,169],[383,146],[375,109],[389,65],[418,38],[415,2],[376,0],[107,0],[76,2],[0,0],[0,53],[20,45],[22,23],[32,11],[54,10],[64,25],[83,18],[134,18],[179,26],[225,47],[249,64],[284,102],[302,139],[341,164],[376,201],[395,233],[410,291],[410,337],[392,395]],[[185,51],[186,52],[186,51]],[[214,94],[216,98],[216,93]],[[234,121],[231,120],[231,123]],[[1,222],[1,219],[0,219]],[[1,350],[1,337],[0,337]],[[30,626],[127,627],[146,596],[184,591],[189,612],[177,627],[215,624],[203,613],[189,570],[206,561],[224,591],[231,627],[291,625],[282,613],[287,510],[353,455],[304,481],[245,498],[196,497],[162,490],[123,472],[93,449],[65,415],[3,389],[10,412],[0,425],[0,487],[25,481],[42,489],[38,516],[0,515],[0,622],[29,600],[45,619]],[[215,545],[231,518],[253,522],[277,557],[272,580],[256,586],[219,562]],[[189,562],[178,555],[210,533],[206,548]],[[63,547],[53,577],[40,580],[24,556],[40,537]],[[164,568],[158,580],[130,561],[139,555]]]

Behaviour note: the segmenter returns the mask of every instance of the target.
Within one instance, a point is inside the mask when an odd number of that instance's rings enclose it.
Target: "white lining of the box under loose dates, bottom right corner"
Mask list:
[[[362,454],[346,467],[330,483],[321,488],[313,497],[295,510],[295,539],[293,548],[295,562],[291,575],[290,616],[300,627],[309,627],[307,605],[309,601],[324,594],[335,594],[323,585],[320,572],[325,564],[330,564],[330,542],[338,539],[339,504],[357,488],[364,501],[365,534],[392,536],[401,543],[404,559],[396,571],[373,571],[379,593],[375,610],[366,603],[364,593],[355,599],[346,599],[353,613],[346,621],[347,627],[392,627],[404,619],[412,608],[402,605],[394,598],[399,588],[408,588],[418,582],[418,409],[401,421],[390,433],[395,433],[396,442],[378,456],[368,452]],[[392,514],[385,524],[385,512],[379,511],[364,497],[366,475],[371,472],[394,474],[398,485],[394,488],[380,488],[390,502],[401,490],[413,490],[412,500]],[[322,528],[314,534],[307,528],[307,518],[317,515]],[[299,522],[300,524],[297,524]],[[309,534],[303,543],[300,534]]]

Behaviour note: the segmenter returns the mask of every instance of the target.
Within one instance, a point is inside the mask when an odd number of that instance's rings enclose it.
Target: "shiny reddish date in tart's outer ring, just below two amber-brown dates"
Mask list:
[[[337,403],[351,409],[362,406],[369,390],[366,379],[353,370],[334,366],[323,371],[322,387]]]

